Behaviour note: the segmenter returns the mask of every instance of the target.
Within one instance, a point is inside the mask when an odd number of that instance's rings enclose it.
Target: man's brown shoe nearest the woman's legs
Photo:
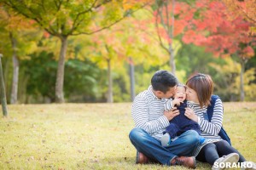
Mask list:
[[[189,167],[195,169],[196,167],[196,161],[195,161],[195,156],[191,157],[186,157],[186,156],[180,156],[180,157],[175,157],[171,161],[171,165],[181,165],[184,167]]]

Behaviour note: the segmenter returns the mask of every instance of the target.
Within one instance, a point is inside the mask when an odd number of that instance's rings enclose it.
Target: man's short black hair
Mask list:
[[[168,71],[156,71],[151,78],[151,85],[154,90],[161,91],[164,94],[177,85],[177,78]]]

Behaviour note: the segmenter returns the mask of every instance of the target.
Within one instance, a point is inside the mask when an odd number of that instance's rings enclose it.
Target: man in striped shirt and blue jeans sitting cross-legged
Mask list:
[[[168,71],[156,71],[148,90],[134,99],[131,116],[136,127],[129,138],[137,149],[137,163],[149,161],[163,165],[195,168],[195,157],[189,156],[199,144],[199,134],[189,130],[174,139],[169,146],[163,147],[160,139],[169,125],[169,121],[179,114],[177,108],[164,111],[166,99],[175,94],[177,78]]]

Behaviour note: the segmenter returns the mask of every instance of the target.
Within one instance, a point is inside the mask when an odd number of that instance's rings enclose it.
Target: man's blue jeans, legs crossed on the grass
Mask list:
[[[137,151],[142,152],[149,160],[168,166],[171,166],[171,161],[176,156],[189,156],[199,144],[199,134],[195,130],[182,133],[167,147],[163,147],[160,140],[154,139],[139,127],[131,130],[129,138]]]

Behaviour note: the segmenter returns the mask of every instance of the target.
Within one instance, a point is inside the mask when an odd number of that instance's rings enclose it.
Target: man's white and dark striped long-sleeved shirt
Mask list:
[[[164,116],[165,104],[166,99],[158,99],[152,91],[152,86],[138,94],[131,106],[135,126],[143,128],[154,139],[160,140],[170,124]]]

